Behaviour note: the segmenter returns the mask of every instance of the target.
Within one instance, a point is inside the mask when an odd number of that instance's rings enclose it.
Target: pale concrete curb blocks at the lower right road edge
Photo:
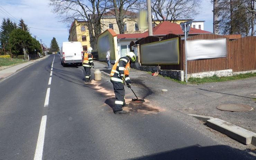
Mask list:
[[[256,146],[256,133],[241,128],[237,125],[231,124],[229,122],[223,121],[218,118],[213,118],[210,116],[189,114],[196,119],[206,122],[206,125],[210,128],[219,131],[227,136],[243,143],[243,144],[253,144]]]

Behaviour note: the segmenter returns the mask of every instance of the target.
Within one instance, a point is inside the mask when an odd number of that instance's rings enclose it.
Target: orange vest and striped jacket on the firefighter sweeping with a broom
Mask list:
[[[110,79],[115,82],[124,83],[121,79],[121,76],[122,76],[125,78],[125,81],[127,83],[130,83],[129,71],[130,71],[130,59],[128,57],[121,57],[113,66],[110,73],[110,76],[111,76]]]

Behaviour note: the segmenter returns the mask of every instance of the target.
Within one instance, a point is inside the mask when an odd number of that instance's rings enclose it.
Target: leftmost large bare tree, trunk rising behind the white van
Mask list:
[[[108,0],[49,0],[53,12],[58,13],[63,22],[85,21],[89,30],[90,44],[96,48],[101,34],[101,17],[106,11]],[[81,24],[80,24],[81,25]],[[84,25],[84,24],[83,24]]]

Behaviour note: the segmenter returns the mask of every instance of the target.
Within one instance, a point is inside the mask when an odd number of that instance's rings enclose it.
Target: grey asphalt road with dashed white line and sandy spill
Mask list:
[[[51,55],[0,82],[1,160],[255,159],[253,151],[222,141],[173,108],[180,102],[171,93],[156,94],[155,79],[131,74],[132,88],[146,102],[129,103],[134,95],[126,87],[128,114],[115,115],[109,77],[84,84],[84,75],[83,67],[63,67]]]

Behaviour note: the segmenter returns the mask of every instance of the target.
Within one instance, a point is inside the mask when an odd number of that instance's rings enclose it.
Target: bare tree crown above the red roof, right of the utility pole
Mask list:
[[[152,11],[157,21],[192,19],[198,15],[201,0],[152,0]]]

